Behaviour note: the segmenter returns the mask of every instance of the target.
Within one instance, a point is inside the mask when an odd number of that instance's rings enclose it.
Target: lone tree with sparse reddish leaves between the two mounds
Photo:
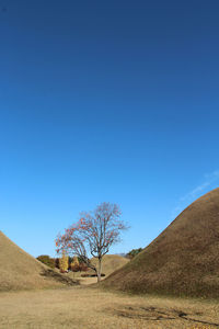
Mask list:
[[[97,275],[101,281],[102,259],[110,251],[111,246],[120,241],[120,231],[127,229],[120,220],[122,212],[116,204],[102,203],[94,212],[84,212],[78,223],[58,235],[56,239],[57,252],[64,250],[68,254],[78,256]],[[97,258],[97,266],[90,256]]]

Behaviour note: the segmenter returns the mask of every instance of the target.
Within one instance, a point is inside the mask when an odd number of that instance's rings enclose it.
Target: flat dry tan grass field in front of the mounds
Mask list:
[[[211,324],[211,325],[210,325]],[[218,302],[130,296],[93,286],[0,293],[0,328],[218,328]]]

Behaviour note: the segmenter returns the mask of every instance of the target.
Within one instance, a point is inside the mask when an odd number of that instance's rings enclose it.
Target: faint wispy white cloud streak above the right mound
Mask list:
[[[184,196],[180,197],[176,206],[172,211],[172,218],[175,218],[175,216],[180,214],[185,208],[185,206],[187,206],[193,201],[195,201],[195,198],[197,198],[200,195],[200,193],[204,193],[206,189],[212,186],[212,184],[218,180],[219,180],[219,170],[215,170],[211,173],[206,173],[204,175],[204,181],[201,184],[197,185],[192,191],[186,193]]]

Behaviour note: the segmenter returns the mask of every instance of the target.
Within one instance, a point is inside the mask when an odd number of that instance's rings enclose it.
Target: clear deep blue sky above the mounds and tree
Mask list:
[[[126,252],[216,188],[218,16],[218,0],[0,0],[0,229],[55,256],[114,202]]]

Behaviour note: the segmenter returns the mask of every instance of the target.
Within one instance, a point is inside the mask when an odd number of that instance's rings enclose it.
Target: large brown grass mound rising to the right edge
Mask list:
[[[219,296],[219,189],[191,204],[103,286],[135,293]]]

